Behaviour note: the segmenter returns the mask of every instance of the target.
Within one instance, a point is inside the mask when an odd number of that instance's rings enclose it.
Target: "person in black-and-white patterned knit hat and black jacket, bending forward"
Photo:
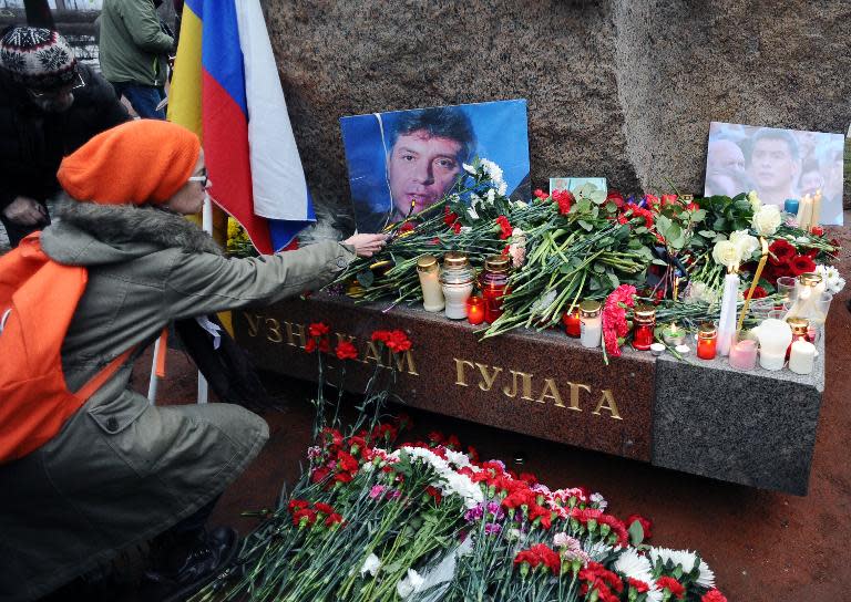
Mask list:
[[[55,31],[11,27],[0,38],[0,220],[12,247],[50,224],[63,155],[130,120],[112,86]]]

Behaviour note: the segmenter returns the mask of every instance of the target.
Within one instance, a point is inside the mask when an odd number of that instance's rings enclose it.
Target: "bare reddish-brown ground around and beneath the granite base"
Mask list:
[[[835,232],[845,247],[839,269],[851,272],[851,229]],[[851,279],[850,279],[851,280]],[[490,427],[404,408],[414,422],[413,436],[430,430],[454,433],[475,446],[483,458],[500,458],[550,487],[585,485],[599,491],[619,517],[638,512],[654,521],[652,543],[698,550],[717,575],[730,602],[844,602],[851,600],[851,287],[833,301],[827,324],[826,392],[809,495],[796,497],[749,489],[605,454],[534,439]],[[161,385],[163,403],[195,399],[196,377],[183,353],[170,351],[168,377]],[[134,381],[146,391],[151,363],[137,364]],[[260,456],[219,501],[212,522],[247,533],[253,519],[243,510],[275,504],[284,484],[298,476],[310,443],[314,386],[264,375],[286,408],[268,411],[270,438]],[[722,408],[719,408],[722,411]],[[140,600],[115,592],[114,600]]]

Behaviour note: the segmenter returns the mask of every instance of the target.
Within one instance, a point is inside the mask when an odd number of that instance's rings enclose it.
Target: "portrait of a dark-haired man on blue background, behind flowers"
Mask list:
[[[532,196],[525,100],[355,115],[340,127],[361,232],[439,201],[475,157],[502,168],[513,199]]]

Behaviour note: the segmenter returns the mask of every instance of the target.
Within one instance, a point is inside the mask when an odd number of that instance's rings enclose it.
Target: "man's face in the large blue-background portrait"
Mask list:
[[[419,212],[440,200],[461,173],[461,143],[418,129],[400,135],[388,157],[390,195],[398,212]]]

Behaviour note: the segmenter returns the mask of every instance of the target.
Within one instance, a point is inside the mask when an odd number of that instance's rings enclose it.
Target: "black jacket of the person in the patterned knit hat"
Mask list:
[[[62,157],[130,115],[106,80],[79,65],[85,87],[64,113],[43,113],[27,91],[0,74],[0,210],[19,195],[44,201],[59,191]]]

